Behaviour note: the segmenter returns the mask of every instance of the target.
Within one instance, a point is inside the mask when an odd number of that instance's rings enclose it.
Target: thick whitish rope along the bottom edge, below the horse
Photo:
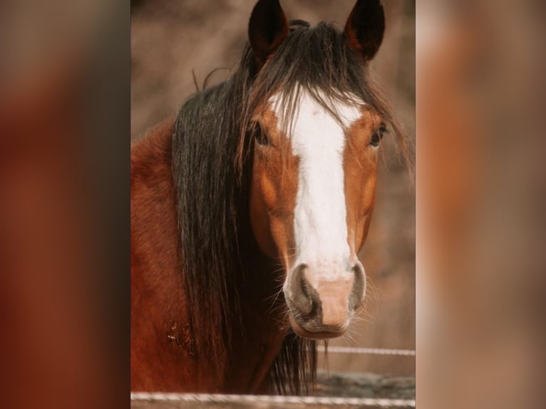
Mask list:
[[[132,392],[131,400],[147,402],[200,402],[200,403],[269,403],[343,405],[379,408],[415,408],[415,400],[374,398],[329,398],[314,396],[269,396],[269,395],[219,395],[209,393],[145,393]]]

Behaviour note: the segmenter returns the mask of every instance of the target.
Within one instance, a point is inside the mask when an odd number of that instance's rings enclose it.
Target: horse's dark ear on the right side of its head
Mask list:
[[[385,13],[380,0],[357,0],[345,24],[349,47],[366,61],[376,55],[385,31]]]

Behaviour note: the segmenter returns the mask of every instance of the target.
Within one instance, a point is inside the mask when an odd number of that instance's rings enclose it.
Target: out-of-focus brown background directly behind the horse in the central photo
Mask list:
[[[354,0],[282,1],[288,19],[311,24],[331,21],[344,28]],[[225,80],[247,42],[254,0],[140,0],[131,4],[131,138],[165,118],[175,117],[201,87]],[[415,2],[385,0],[386,33],[371,71],[395,117],[413,144],[415,135]],[[415,349],[415,196],[413,181],[385,138],[377,199],[369,237],[360,259],[369,278],[366,309],[350,333],[330,346]],[[412,155],[413,156],[413,155]],[[329,353],[332,373],[369,373],[362,388],[328,390],[330,395],[414,397],[415,358]],[[321,361],[321,369],[326,363]],[[387,378],[385,378],[387,377]],[[355,382],[352,379],[350,382]],[[384,387],[381,387],[384,384]],[[400,388],[393,392],[390,389]],[[398,393],[398,395],[397,395]],[[390,394],[390,395],[389,395]]]

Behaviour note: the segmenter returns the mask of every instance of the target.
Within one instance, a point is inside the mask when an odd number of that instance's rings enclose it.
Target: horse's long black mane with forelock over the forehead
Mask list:
[[[227,357],[225,342],[229,348],[239,309],[235,282],[244,267],[239,238],[249,222],[245,175],[252,156],[252,116],[262,101],[280,91],[288,101],[289,121],[303,89],[327,109],[334,99],[366,101],[405,147],[388,105],[369,80],[368,67],[331,24],[310,28],[307,22],[292,21],[289,37],[261,69],[247,45],[227,81],[195,93],[182,105],[172,134],[180,267],[197,349],[210,353],[219,365]],[[203,311],[206,319],[196,319]],[[223,341],[213,339],[218,328],[223,328]],[[290,334],[272,368],[277,391],[302,393],[315,372],[314,341]]]

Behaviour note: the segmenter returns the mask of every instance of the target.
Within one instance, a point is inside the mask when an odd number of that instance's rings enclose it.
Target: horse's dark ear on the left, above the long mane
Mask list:
[[[288,33],[287,17],[279,0],[259,0],[250,15],[248,37],[260,64],[277,50]]]

